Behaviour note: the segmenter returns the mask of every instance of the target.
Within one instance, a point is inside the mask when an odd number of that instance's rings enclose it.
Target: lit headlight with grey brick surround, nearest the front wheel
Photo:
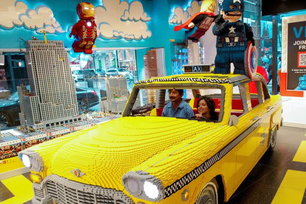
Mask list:
[[[123,186],[133,196],[158,202],[164,199],[165,188],[161,181],[144,171],[129,171],[122,177]]]

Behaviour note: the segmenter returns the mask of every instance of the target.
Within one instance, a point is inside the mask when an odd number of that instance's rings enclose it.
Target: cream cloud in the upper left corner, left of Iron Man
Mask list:
[[[0,26],[12,29],[22,25],[27,29],[36,30],[37,33],[42,30],[50,34],[66,32],[53,17],[50,8],[39,5],[35,9],[29,9],[23,1],[3,0],[0,6]]]

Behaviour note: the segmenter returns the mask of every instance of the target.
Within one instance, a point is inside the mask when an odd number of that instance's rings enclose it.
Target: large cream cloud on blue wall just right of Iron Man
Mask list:
[[[140,2],[102,0],[102,4],[95,8],[98,36],[126,40],[147,39],[152,36],[147,25],[147,21],[151,18],[144,13]]]

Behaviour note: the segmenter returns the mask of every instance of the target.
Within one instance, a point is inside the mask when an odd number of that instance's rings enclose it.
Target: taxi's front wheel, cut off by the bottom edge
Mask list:
[[[208,182],[200,192],[196,204],[218,204],[218,183],[215,179]]]

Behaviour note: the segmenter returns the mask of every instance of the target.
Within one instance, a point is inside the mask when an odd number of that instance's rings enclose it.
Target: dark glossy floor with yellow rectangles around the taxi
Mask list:
[[[227,203],[306,204],[305,143],[306,129],[281,127],[274,150],[264,154]],[[23,176],[29,179],[29,173]],[[0,202],[12,203],[7,199],[14,194],[3,183],[0,182]],[[27,196],[15,195],[23,200]]]

